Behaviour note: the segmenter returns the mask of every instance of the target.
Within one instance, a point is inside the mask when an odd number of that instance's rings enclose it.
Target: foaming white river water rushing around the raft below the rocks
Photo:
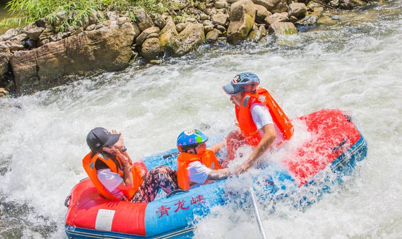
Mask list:
[[[159,66],[1,99],[0,237],[66,237],[63,202],[86,177],[81,158],[95,126],[121,130],[136,157],[173,148],[186,128],[211,138],[234,129],[221,86],[242,71],[259,75],[291,118],[348,111],[369,145],[355,177],[306,211],[268,213],[260,205],[268,237],[402,237],[401,12],[400,1],[373,4],[341,13],[335,26],[261,44],[204,46]],[[226,205],[197,224],[195,238],[207,237],[258,238],[259,231],[250,211]]]

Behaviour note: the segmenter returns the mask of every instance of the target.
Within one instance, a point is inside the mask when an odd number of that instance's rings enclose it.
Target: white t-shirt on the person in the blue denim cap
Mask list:
[[[251,106],[250,110],[251,110],[251,118],[253,119],[253,122],[257,127],[261,136],[264,134],[264,132],[262,132],[262,130],[260,129],[267,124],[273,124],[276,132],[276,139],[273,142],[273,144],[276,144],[277,142],[283,140],[282,133],[280,132],[277,125],[273,122],[272,116],[264,104],[260,103],[254,104]]]

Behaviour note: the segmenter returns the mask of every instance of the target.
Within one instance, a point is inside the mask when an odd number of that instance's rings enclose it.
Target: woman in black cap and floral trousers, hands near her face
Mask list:
[[[148,203],[155,199],[159,188],[166,193],[176,189],[176,172],[167,166],[158,166],[144,172],[133,164],[123,136],[115,130],[92,129],[86,142],[91,149],[82,160],[85,172],[100,194],[111,200]]]

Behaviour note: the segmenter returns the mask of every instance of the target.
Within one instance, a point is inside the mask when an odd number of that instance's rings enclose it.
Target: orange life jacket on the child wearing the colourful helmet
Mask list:
[[[203,155],[180,152],[180,154],[177,156],[177,183],[181,189],[190,189],[190,180],[188,178],[187,167],[188,164],[195,161],[203,163],[208,168],[211,168],[212,163],[214,163],[215,170],[222,169],[214,151],[211,149],[206,149]],[[207,182],[208,180],[204,184]]]

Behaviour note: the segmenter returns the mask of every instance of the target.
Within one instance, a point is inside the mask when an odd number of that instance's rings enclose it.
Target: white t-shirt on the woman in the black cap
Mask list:
[[[115,197],[124,198],[125,195],[122,190],[117,187],[123,182],[123,178],[119,174],[113,173],[110,169],[96,170],[97,178],[105,188]]]

